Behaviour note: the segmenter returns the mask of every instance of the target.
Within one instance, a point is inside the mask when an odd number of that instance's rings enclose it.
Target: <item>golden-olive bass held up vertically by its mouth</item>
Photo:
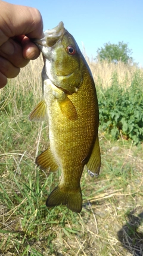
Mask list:
[[[48,122],[49,146],[36,157],[36,165],[48,172],[61,168],[60,183],[49,194],[46,206],[64,205],[79,213],[83,169],[94,177],[101,167],[97,92],[91,70],[63,22],[43,34],[34,40],[44,62],[43,100],[29,120]]]

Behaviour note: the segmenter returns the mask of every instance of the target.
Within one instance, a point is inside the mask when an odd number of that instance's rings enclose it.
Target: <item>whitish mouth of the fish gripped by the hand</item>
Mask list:
[[[60,22],[55,28],[43,32],[44,37],[41,39],[34,39],[33,43],[35,43],[41,52],[43,52],[43,47],[54,46],[54,44],[64,35],[64,31],[64,23]]]

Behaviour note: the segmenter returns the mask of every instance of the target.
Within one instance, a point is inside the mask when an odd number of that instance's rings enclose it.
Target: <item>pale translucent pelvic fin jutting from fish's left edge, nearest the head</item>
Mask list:
[[[46,119],[46,103],[42,100],[29,115],[30,121],[42,122]]]

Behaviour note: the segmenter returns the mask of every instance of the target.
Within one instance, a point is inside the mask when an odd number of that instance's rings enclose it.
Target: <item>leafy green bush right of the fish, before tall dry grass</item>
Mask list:
[[[143,141],[143,76],[140,70],[133,74],[131,85],[119,85],[113,74],[111,87],[98,91],[101,129],[119,138],[120,132],[134,144]]]

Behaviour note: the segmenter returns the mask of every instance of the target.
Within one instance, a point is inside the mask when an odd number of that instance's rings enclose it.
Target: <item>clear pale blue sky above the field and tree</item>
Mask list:
[[[143,0],[13,0],[11,4],[36,7],[42,14],[43,30],[62,20],[80,49],[82,42],[91,58],[104,43],[123,41],[132,58],[143,67]]]

